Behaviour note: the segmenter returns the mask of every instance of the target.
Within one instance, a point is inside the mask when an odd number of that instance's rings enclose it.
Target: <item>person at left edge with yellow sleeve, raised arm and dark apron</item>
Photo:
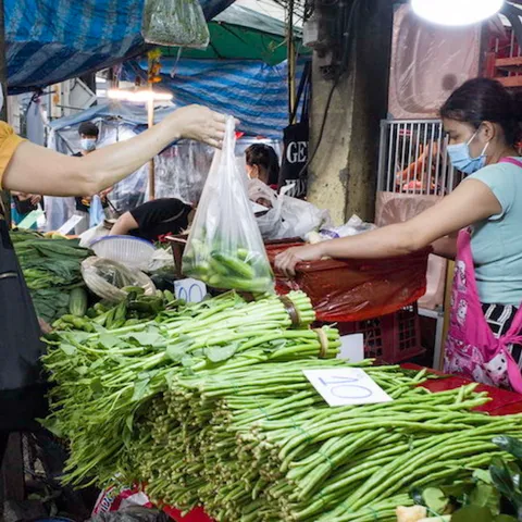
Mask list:
[[[18,138],[0,122],[0,185],[3,189],[50,196],[98,194],[137,171],[179,138],[219,147],[225,117],[188,107],[128,141],[82,158],[59,154]],[[45,415],[40,328],[0,212],[0,464],[9,432],[37,427]],[[1,508],[0,508],[1,509]],[[0,517],[1,518],[1,517]]]

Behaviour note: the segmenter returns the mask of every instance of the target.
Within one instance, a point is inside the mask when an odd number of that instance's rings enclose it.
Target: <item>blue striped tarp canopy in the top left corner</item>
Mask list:
[[[233,0],[200,0],[207,20]],[[11,95],[142,54],[144,0],[4,0]]]

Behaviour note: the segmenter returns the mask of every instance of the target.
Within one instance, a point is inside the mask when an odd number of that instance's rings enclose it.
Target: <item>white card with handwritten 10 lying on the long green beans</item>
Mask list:
[[[375,405],[393,399],[360,368],[303,370],[328,406]]]

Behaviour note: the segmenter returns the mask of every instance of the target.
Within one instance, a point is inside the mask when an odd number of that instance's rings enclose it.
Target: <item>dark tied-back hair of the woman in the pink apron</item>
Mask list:
[[[465,82],[444,103],[440,116],[469,123],[478,128],[483,122],[497,123],[506,141],[514,146],[522,138],[522,99],[499,82],[474,78]]]

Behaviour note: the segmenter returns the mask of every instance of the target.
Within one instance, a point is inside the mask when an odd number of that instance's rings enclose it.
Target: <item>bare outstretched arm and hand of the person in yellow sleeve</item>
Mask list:
[[[220,147],[224,133],[224,115],[191,105],[173,112],[139,136],[82,158],[25,141],[16,148],[5,169],[2,187],[49,196],[98,194],[137,171],[176,139],[195,139]]]

